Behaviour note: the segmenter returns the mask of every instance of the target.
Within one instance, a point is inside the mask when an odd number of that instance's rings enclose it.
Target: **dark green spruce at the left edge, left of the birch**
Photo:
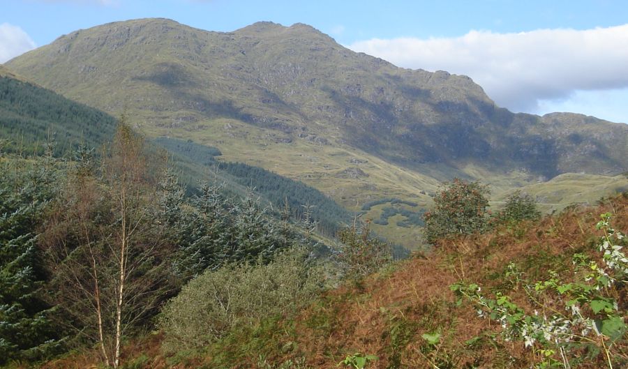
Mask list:
[[[38,296],[45,276],[36,233],[54,178],[44,168],[7,169],[0,173],[0,365],[40,359],[58,337]]]

